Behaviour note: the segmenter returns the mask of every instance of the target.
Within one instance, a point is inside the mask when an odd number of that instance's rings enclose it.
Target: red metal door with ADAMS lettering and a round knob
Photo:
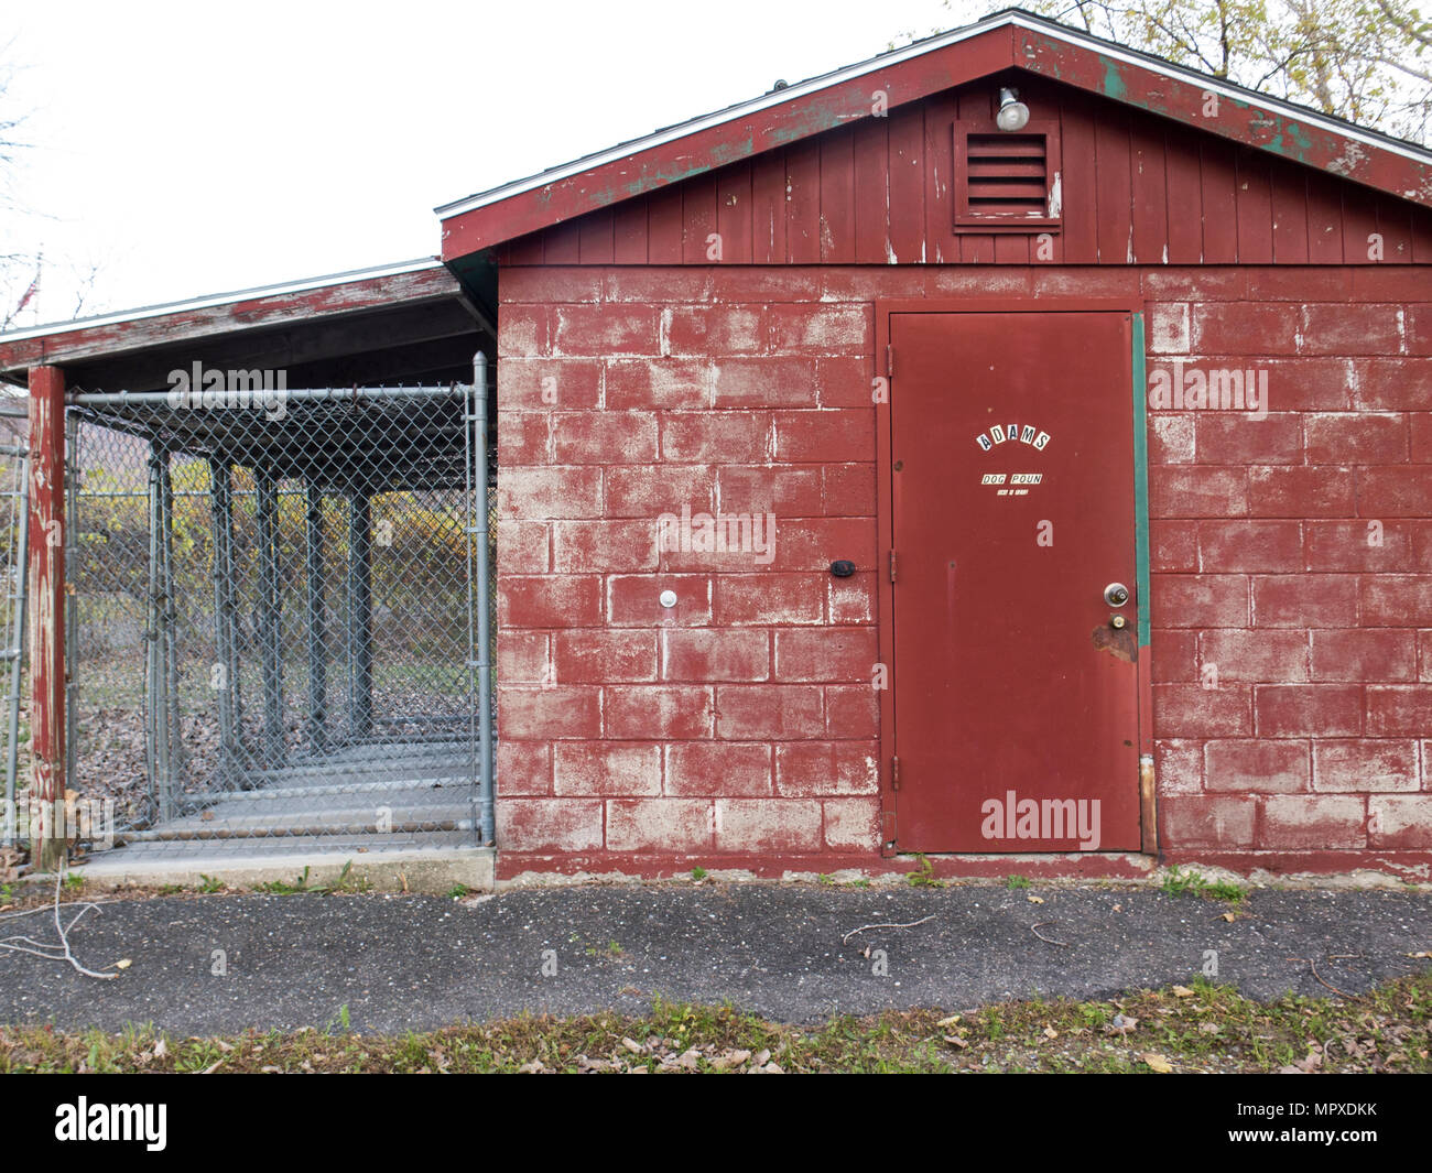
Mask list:
[[[1131,317],[889,338],[896,845],[1137,851]]]

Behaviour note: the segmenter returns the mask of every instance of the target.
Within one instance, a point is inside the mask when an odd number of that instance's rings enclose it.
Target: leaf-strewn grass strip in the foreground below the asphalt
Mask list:
[[[0,1027],[0,1071],[749,1071],[765,1060],[783,1071],[1432,1073],[1432,971],[1358,1001],[1287,995],[1263,1004],[1201,980],[1180,991],[838,1015],[813,1027],[662,1000],[639,1017],[523,1015],[402,1036],[354,1033],[347,1004],[324,1031],[222,1038],[173,1038],[150,1027]],[[1116,1028],[1116,1014],[1136,1025]]]

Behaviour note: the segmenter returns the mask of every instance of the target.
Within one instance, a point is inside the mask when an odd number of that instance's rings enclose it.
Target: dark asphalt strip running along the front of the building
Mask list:
[[[1213,967],[1249,997],[1327,997],[1329,985],[1356,994],[1429,964],[1415,957],[1432,950],[1426,894],[1254,891],[1232,922],[1229,908],[1154,889],[1038,885],[116,899],[70,941],[93,968],[127,958],[119,978],[0,951],[0,1018],[213,1034],[322,1028],[345,1013],[354,1030],[401,1031],[523,1011],[642,1013],[660,995],[808,1023],[1108,997]],[[892,924],[911,927],[851,935]],[[0,921],[0,935],[53,931],[49,914]]]

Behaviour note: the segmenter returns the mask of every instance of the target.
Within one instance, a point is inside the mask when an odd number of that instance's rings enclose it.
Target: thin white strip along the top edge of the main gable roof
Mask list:
[[[766,110],[772,106],[780,106],[793,99],[805,97],[819,90],[828,89],[829,86],[839,85],[841,82],[848,82],[853,77],[862,77],[866,73],[875,73],[876,70],[884,70],[891,66],[899,64],[901,62],[908,62],[912,57],[919,57],[925,53],[931,53],[937,49],[944,49],[948,44],[958,44],[962,40],[978,36],[981,33],[988,33],[992,29],[1001,29],[1012,26],[1015,29],[1024,29],[1028,33],[1040,33],[1041,36],[1053,37],[1055,40],[1064,40],[1067,44],[1077,46],[1081,49],[1088,49],[1100,56],[1110,57],[1126,64],[1138,66],[1140,69],[1147,69],[1153,73],[1163,74],[1170,79],[1177,79],[1189,82],[1190,85],[1199,86],[1210,93],[1217,93],[1233,102],[1242,102],[1259,109],[1282,110],[1289,115],[1289,117],[1296,119],[1305,126],[1316,126],[1332,135],[1337,135],[1343,139],[1353,139],[1356,142],[1365,143],[1368,146],[1378,148],[1379,150],[1389,150],[1393,155],[1402,155],[1403,158],[1413,159],[1416,162],[1432,163],[1432,150],[1422,150],[1411,143],[1400,143],[1396,140],[1389,140],[1379,137],[1376,135],[1366,135],[1358,127],[1348,126],[1346,123],[1332,122],[1323,117],[1315,110],[1309,110],[1305,106],[1297,106],[1292,102],[1285,102],[1279,97],[1272,97],[1269,95],[1254,93],[1252,90],[1244,90],[1239,86],[1230,86],[1226,82],[1220,82],[1209,74],[1199,73],[1193,69],[1186,69],[1184,66],[1173,63],[1161,63],[1150,57],[1127,53],[1121,49],[1111,46],[1108,42],[1095,40],[1084,36],[1075,29],[1065,29],[1058,24],[1045,24],[1042,21],[1031,21],[1022,16],[1000,16],[982,20],[978,24],[969,24],[964,29],[955,29],[949,33],[944,33],[939,37],[932,37],[928,40],[916,42],[915,44],[906,46],[905,49],[896,49],[892,53],[885,53],[879,57],[874,57],[869,62],[862,62],[861,64],[848,66],[846,69],[836,70],[833,73],[822,74],[821,77],[812,77],[808,82],[800,82],[795,86],[788,86],[783,90],[775,90],[772,93],[762,95],[760,97],[753,97],[749,102],[743,102],[739,106],[732,106],[719,113],[706,115],[705,117],[697,117],[690,122],[683,122],[679,126],[673,126],[667,130],[657,130],[653,135],[647,135],[643,139],[633,139],[621,146],[613,146],[597,155],[590,155],[584,159],[577,159],[570,163],[563,163],[561,166],[553,168],[551,170],[538,172],[537,175],[527,176],[526,179],[516,179],[511,183],[504,183],[501,188],[493,188],[487,192],[478,192],[477,195],[464,196],[463,199],[453,201],[451,203],[442,203],[432,211],[441,219],[451,219],[464,212],[475,211],[477,208],[485,208],[491,203],[500,203],[511,196],[521,195],[523,192],[530,192],[537,188],[548,186],[550,183],[560,183],[563,179],[570,179],[574,175],[581,175],[583,172],[593,170],[594,168],[606,166],[607,163],[624,159],[629,155],[636,155],[639,150],[649,150],[654,146],[662,146],[669,142],[676,142],[677,139],[684,139],[689,135],[699,135],[703,130],[710,130],[712,127],[722,126],[727,122],[735,122],[736,119],[745,117],[746,115],[756,113],[759,110]],[[1058,80],[1058,79],[1055,79]],[[1296,160],[1293,160],[1296,162]]]

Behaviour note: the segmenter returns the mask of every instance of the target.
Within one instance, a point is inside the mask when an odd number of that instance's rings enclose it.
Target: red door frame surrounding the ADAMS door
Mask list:
[[[876,484],[876,639],[879,663],[886,667],[885,689],[879,695],[879,792],[881,792],[881,855],[901,855],[899,795],[895,789],[891,762],[895,755],[895,599],[889,580],[889,559],[895,546],[895,500],[891,407],[895,400],[899,368],[891,371],[891,317],[895,314],[1128,314],[1130,315],[1130,382],[1133,384],[1133,443],[1134,443],[1134,559],[1138,599],[1138,776],[1130,785],[1138,786],[1141,854],[1158,854],[1158,819],[1154,795],[1153,762],[1153,672],[1150,670],[1150,553],[1148,553],[1148,387],[1144,352],[1143,302],[1137,298],[924,298],[876,299],[875,302],[875,375],[884,377],[885,395],[875,401],[875,484]],[[898,573],[898,570],[896,570]],[[1148,763],[1148,765],[1146,765]],[[1100,852],[1088,852],[1098,855]],[[1127,852],[1113,852],[1116,855]]]

